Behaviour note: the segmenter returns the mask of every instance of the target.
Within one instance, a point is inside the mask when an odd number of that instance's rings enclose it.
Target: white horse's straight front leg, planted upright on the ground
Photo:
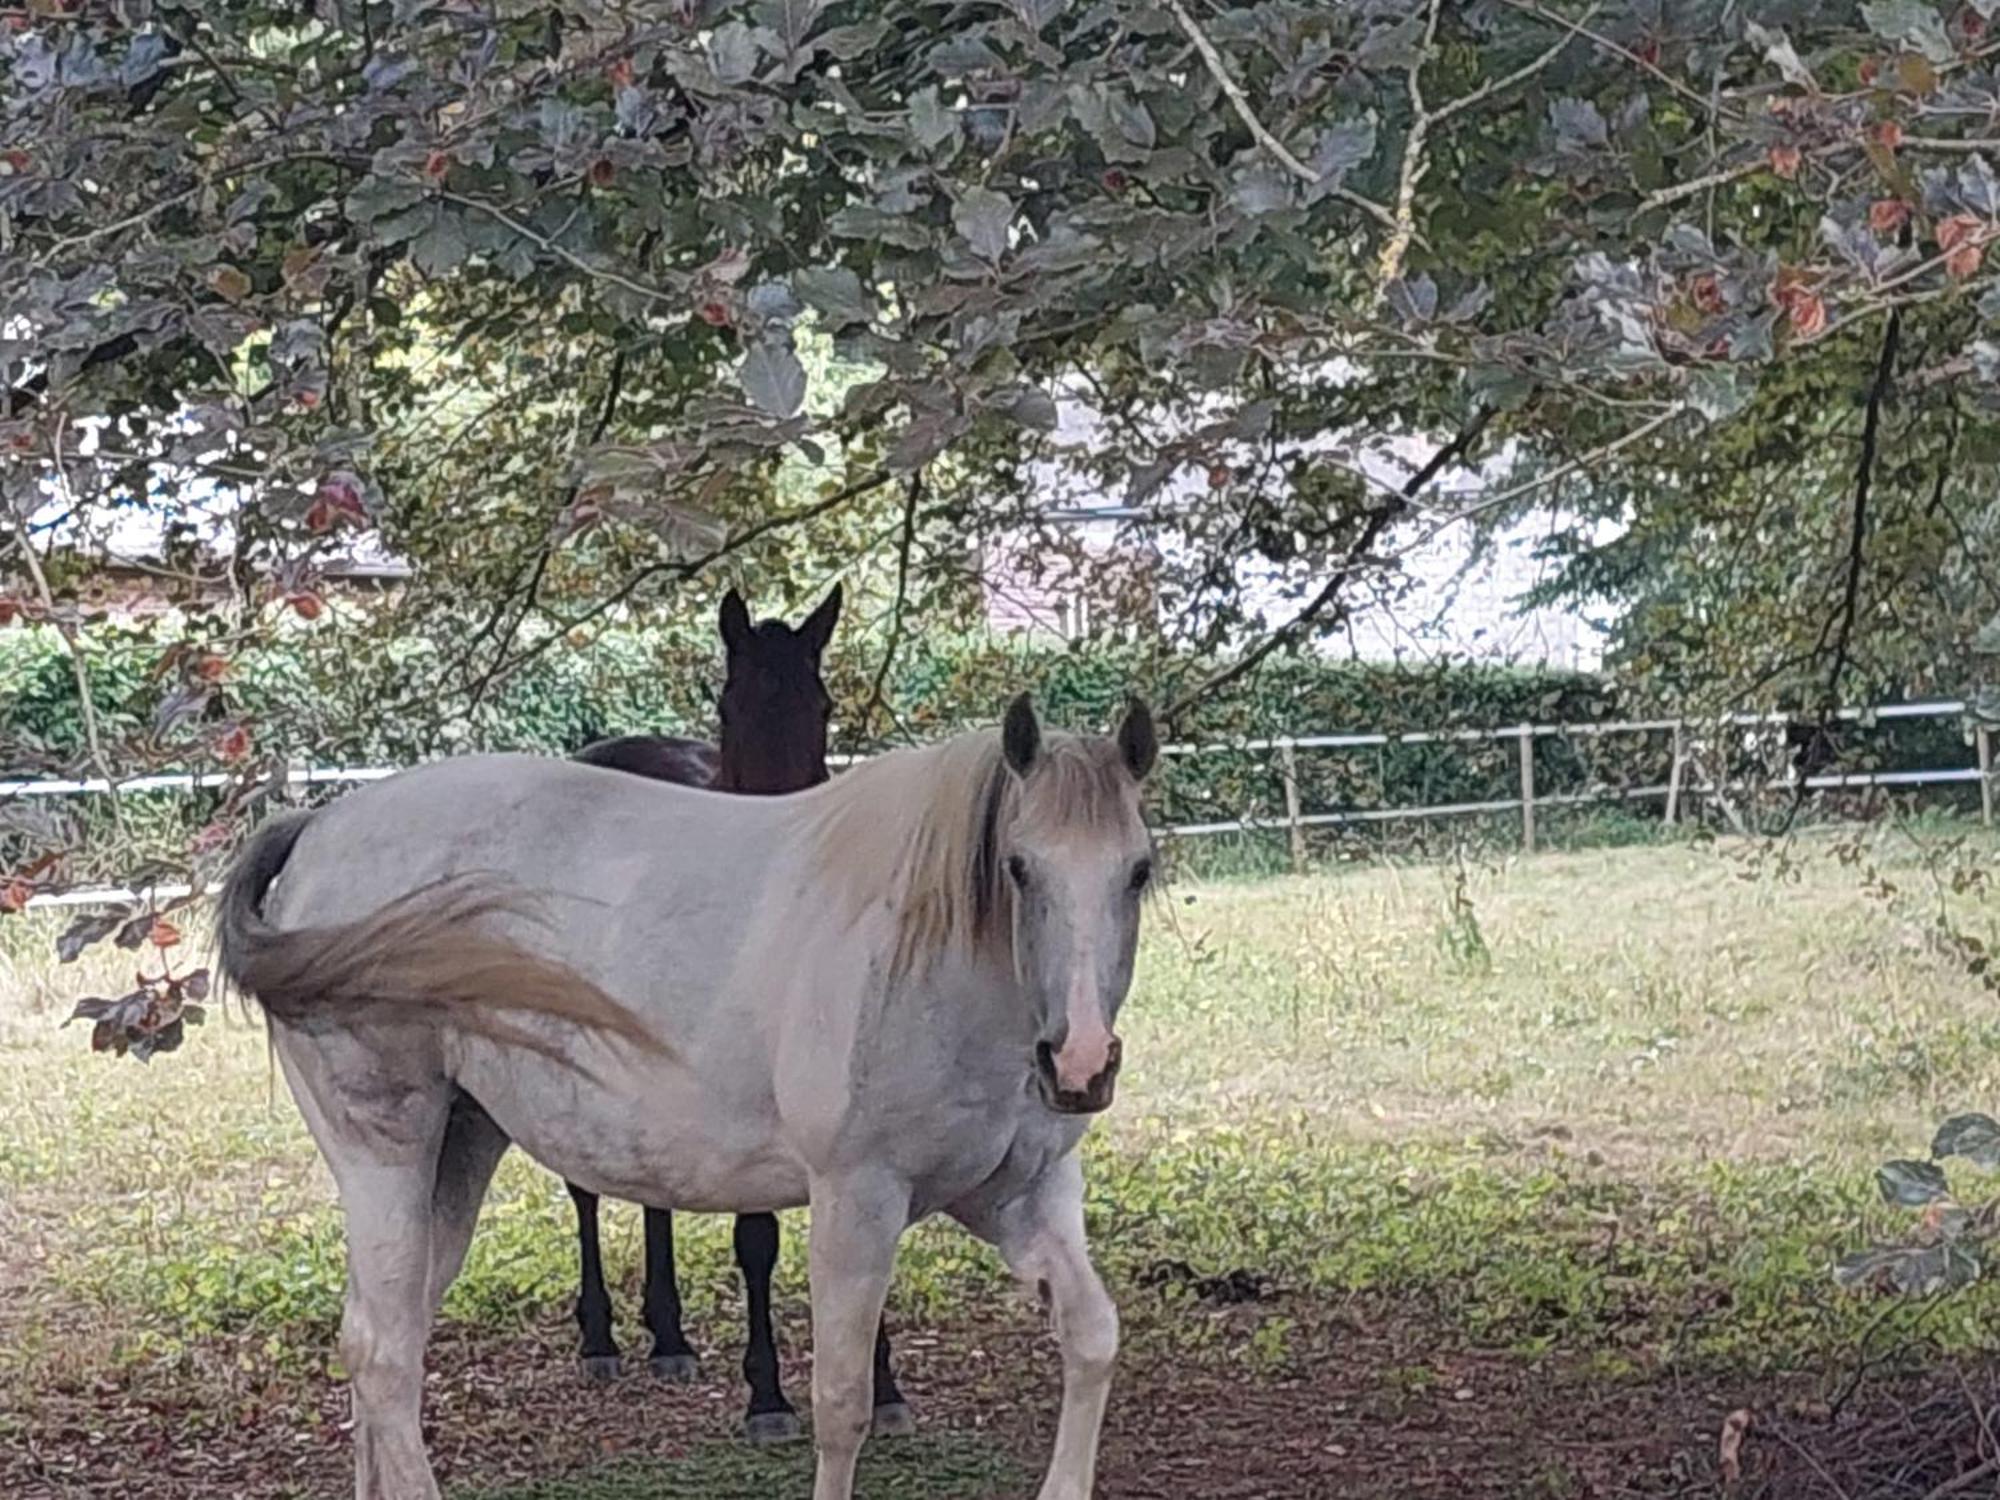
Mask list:
[[[812,1184],[812,1500],[852,1500],[874,1414],[874,1344],[910,1222],[910,1190],[884,1178]]]

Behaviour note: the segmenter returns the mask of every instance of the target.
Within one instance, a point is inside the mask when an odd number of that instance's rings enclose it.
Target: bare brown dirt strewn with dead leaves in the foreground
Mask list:
[[[1158,1332],[1120,1370],[1100,1500],[1714,1496],[1724,1492],[1720,1436],[1738,1408],[1754,1420],[1730,1494],[1924,1500],[2000,1490],[1990,1482],[2000,1472],[1986,1418],[2000,1402],[1992,1370],[1870,1384],[1836,1416],[1826,1408],[1832,1372],[1606,1378],[1562,1360],[1438,1354],[1420,1328],[1330,1320],[1286,1368],[1246,1372],[1226,1358],[1176,1360]],[[912,1328],[900,1346],[926,1438],[900,1456],[876,1444],[862,1494],[1030,1494],[1056,1420],[1046,1336],[1018,1318]],[[764,1500],[802,1488],[802,1446],[746,1456],[732,1442],[730,1364],[716,1352],[704,1378],[682,1388],[642,1376],[582,1386],[560,1326],[514,1338],[444,1330],[426,1434],[456,1500]],[[808,1388],[806,1368],[790,1376],[794,1390]],[[22,1500],[300,1500],[352,1482],[340,1384],[258,1368],[230,1340],[174,1366],[40,1392],[0,1424],[0,1492]]]

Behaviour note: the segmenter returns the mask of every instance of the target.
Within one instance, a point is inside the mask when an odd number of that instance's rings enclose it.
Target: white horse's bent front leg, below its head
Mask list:
[[[1040,1294],[1056,1326],[1062,1418],[1040,1500],[1090,1500],[1098,1474],[1098,1432],[1118,1362],[1118,1308],[1090,1264],[1084,1168],[1072,1152],[1022,1198],[962,1222],[990,1240],[1008,1268]]]

